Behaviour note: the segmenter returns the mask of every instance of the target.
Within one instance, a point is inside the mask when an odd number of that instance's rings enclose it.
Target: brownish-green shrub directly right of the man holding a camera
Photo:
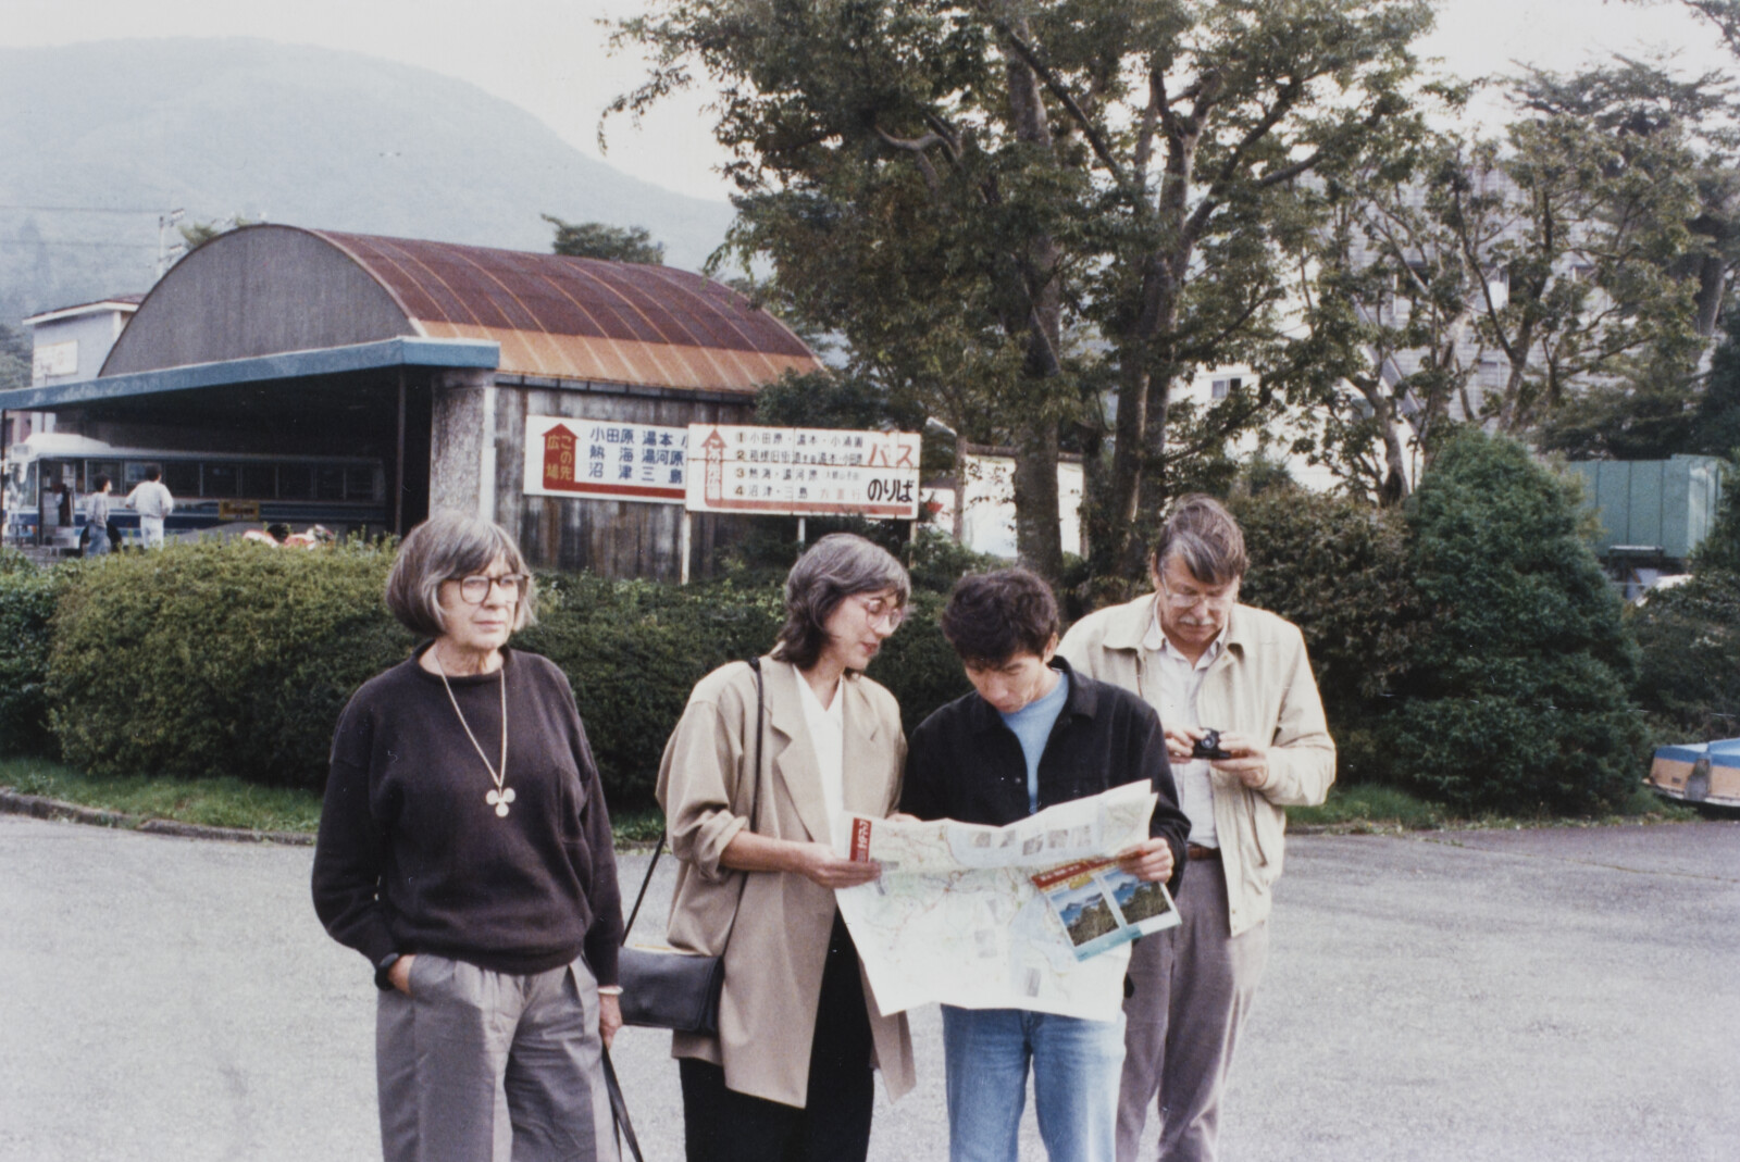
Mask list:
[[[1427,633],[1404,517],[1289,485],[1234,499],[1230,508],[1251,555],[1239,597],[1305,635],[1336,745],[1336,778],[1390,781],[1378,718],[1394,708],[1409,656]]]

